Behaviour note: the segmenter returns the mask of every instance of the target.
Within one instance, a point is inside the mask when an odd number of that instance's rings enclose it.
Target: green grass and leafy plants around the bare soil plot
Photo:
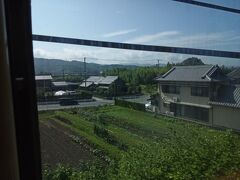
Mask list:
[[[104,169],[68,169],[72,179],[209,179],[240,168],[240,137],[230,130],[118,106],[40,113],[40,120],[46,119],[62,120],[59,123],[110,157]],[[46,177],[56,173],[59,169]]]

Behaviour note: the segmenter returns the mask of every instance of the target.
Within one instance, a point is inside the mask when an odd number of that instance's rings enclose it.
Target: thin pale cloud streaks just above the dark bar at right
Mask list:
[[[139,36],[126,42],[218,50],[230,50],[230,45],[232,46],[231,48],[233,48],[232,51],[239,51],[240,41],[238,40],[239,33],[233,31],[191,35],[184,35],[178,31],[164,31],[156,34]]]

